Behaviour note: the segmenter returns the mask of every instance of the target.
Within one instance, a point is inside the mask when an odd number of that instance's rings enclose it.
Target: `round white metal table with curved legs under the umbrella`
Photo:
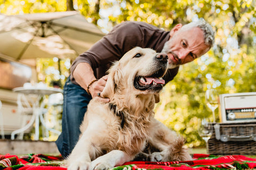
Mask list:
[[[43,126],[46,128],[48,131],[52,131],[54,133],[60,134],[59,131],[47,128],[44,122],[43,118],[43,109],[40,106],[40,100],[42,97],[45,95],[51,95],[51,94],[56,94],[56,93],[63,93],[62,89],[58,88],[48,88],[48,87],[17,87],[13,89],[14,92],[19,92],[25,95],[36,95],[36,100],[33,103],[33,115],[31,116],[31,119],[28,124],[26,124],[24,127],[21,129],[15,130],[11,133],[11,139],[14,140],[14,136],[17,133],[21,133],[26,131],[33,123],[35,122],[35,140],[39,139],[39,121],[42,122]]]

